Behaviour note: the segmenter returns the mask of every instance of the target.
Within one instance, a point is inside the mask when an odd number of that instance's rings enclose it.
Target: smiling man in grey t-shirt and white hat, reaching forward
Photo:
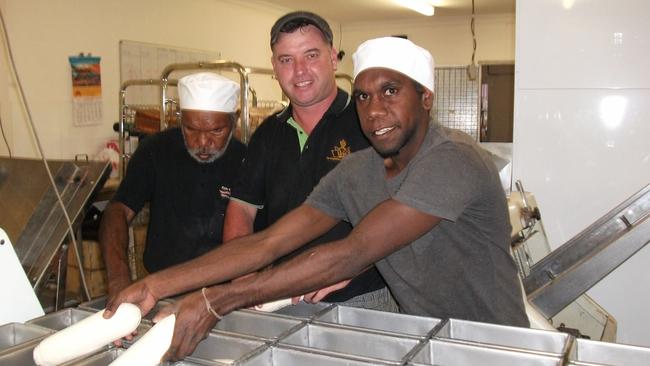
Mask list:
[[[354,277],[376,264],[400,311],[528,326],[499,175],[468,135],[434,123],[433,58],[409,40],[377,38],[353,56],[354,99],[372,144],[321,179],[276,224],[120,294],[148,312],[156,300],[257,270],[340,220],[354,229],[240,281],[204,287],[168,307],[168,358],[192,352],[221,316]],[[118,302],[109,303],[111,311]],[[192,338],[194,337],[194,338]]]

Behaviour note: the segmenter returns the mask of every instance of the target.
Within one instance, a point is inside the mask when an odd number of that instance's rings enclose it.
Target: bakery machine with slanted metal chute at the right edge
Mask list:
[[[513,257],[529,318],[615,341],[616,320],[585,292],[650,241],[650,185],[551,252],[535,198],[521,182],[508,198]]]

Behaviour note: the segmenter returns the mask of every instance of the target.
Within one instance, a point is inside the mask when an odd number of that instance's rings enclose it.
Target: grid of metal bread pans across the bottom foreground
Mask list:
[[[0,365],[33,365],[48,334],[104,308],[81,304],[0,327]],[[161,302],[158,308],[165,305]],[[151,316],[138,328],[152,326]],[[137,341],[136,337],[132,342]],[[128,347],[132,342],[126,342]],[[124,350],[107,346],[66,365],[108,365]],[[575,339],[551,331],[457,319],[300,303],[275,313],[239,310],[223,318],[176,365],[650,365],[650,348]]]

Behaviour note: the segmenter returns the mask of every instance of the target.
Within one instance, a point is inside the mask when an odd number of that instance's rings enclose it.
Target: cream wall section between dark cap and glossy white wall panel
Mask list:
[[[348,23],[342,25],[342,49],[346,56],[340,70],[352,74],[352,54],[363,41],[406,34],[433,55],[436,65],[468,65],[472,59],[469,17],[432,18],[416,21]],[[512,61],[515,57],[514,14],[476,17],[476,62]],[[336,33],[336,31],[335,31]]]

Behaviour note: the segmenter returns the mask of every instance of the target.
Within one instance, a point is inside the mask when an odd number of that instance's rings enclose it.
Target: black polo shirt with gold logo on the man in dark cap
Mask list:
[[[309,135],[303,151],[296,129],[287,120],[291,106],[268,117],[248,144],[242,173],[233,187],[232,197],[263,207],[256,229],[271,225],[287,212],[300,206],[312,189],[353,151],[368,147],[361,132],[354,101],[343,90]],[[352,226],[340,222],[322,237],[291,253],[282,260],[319,243],[347,236]],[[386,284],[376,268],[356,277],[346,288],[330,294],[324,301],[340,302],[374,291]]]

